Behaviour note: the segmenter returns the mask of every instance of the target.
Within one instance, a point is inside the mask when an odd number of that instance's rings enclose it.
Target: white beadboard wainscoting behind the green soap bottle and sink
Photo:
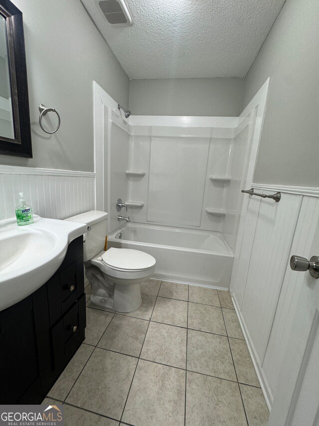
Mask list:
[[[14,217],[19,192],[34,214],[65,219],[95,209],[95,173],[0,166],[0,220]]]

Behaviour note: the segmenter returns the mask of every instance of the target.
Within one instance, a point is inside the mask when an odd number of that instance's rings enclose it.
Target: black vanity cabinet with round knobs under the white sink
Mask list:
[[[53,277],[0,312],[0,404],[40,404],[84,340],[83,237]]]

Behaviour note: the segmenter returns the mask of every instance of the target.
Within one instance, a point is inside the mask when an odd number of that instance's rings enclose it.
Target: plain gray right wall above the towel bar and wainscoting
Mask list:
[[[270,76],[254,182],[319,186],[319,1],[287,0],[245,79]]]

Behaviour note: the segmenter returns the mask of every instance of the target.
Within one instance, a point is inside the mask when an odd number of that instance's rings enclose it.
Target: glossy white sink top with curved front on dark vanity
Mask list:
[[[86,225],[34,215],[34,223],[17,226],[0,221],[0,311],[41,287],[61,265],[68,245]]]

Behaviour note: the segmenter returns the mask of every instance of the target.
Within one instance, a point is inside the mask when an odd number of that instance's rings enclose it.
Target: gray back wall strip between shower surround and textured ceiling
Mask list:
[[[130,80],[130,109],[134,115],[236,116],[243,89],[243,78]]]

